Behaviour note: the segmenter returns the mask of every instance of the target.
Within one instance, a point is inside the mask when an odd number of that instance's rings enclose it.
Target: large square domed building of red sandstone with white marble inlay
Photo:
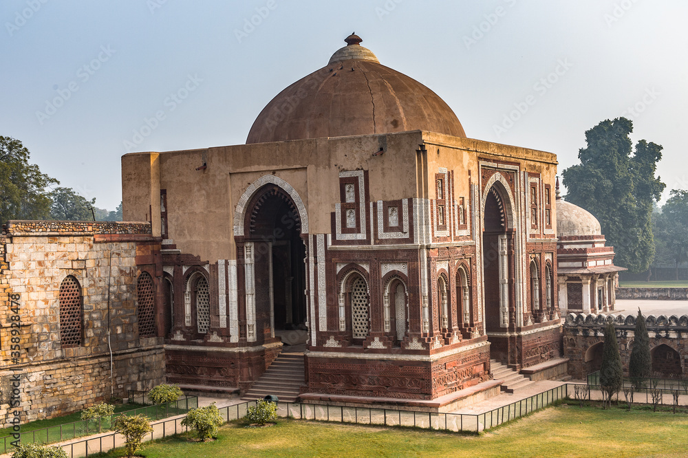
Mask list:
[[[162,238],[166,377],[248,389],[308,330],[302,399],[451,397],[560,355],[555,155],[466,138],[347,37],[246,144],[122,157]]]

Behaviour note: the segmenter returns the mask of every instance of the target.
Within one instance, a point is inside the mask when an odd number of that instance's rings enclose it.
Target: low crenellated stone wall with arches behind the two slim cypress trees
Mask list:
[[[589,373],[599,370],[604,327],[608,320],[614,321],[621,364],[628,375],[636,316],[568,314],[563,327],[563,346],[564,356],[570,359],[568,373],[574,379],[585,380]],[[654,376],[675,378],[685,374],[688,367],[688,316],[650,315],[645,318],[645,325]]]

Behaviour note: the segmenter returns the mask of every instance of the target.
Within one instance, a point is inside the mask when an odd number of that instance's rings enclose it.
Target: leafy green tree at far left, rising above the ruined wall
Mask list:
[[[59,182],[36,164],[19,140],[0,137],[0,223],[9,219],[47,219],[52,199],[45,188]]]

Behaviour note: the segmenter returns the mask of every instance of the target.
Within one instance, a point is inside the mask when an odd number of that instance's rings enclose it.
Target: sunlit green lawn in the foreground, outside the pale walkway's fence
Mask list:
[[[685,457],[688,416],[619,408],[546,408],[480,435],[279,419],[270,428],[233,423],[217,440],[187,435],[144,445],[140,455],[177,457]],[[90,455],[89,455],[90,456]],[[103,457],[122,457],[122,450]]]

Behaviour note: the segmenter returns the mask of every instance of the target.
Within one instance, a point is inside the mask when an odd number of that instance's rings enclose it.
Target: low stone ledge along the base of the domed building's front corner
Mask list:
[[[473,404],[488,397],[498,395],[502,380],[488,380],[469,388],[455,391],[433,400],[397,399],[396,397],[366,397],[328,395],[322,393],[302,393],[299,395],[305,404],[323,404],[334,406],[366,406],[369,408],[387,408],[391,410],[414,410],[421,412],[451,412],[460,406]]]

